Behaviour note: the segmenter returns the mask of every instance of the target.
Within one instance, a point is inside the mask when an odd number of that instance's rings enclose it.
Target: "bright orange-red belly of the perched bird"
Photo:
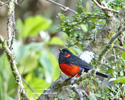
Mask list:
[[[70,64],[70,66],[68,64],[60,64],[59,67],[63,73],[70,77],[74,77],[80,72],[80,67],[73,64]]]

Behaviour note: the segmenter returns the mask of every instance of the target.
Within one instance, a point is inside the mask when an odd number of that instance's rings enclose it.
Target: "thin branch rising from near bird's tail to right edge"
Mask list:
[[[96,67],[99,66],[99,64],[101,63],[103,56],[105,55],[105,53],[110,49],[112,43],[114,42],[114,40],[120,36],[122,34],[122,32],[125,30],[125,26],[123,26],[114,36],[112,36],[112,38],[109,40],[108,44],[104,47],[104,49],[102,50],[102,52],[99,55],[99,60],[96,63]]]

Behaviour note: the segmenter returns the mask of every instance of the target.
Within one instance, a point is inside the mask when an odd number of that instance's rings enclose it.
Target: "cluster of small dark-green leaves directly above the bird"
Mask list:
[[[85,47],[86,40],[94,38],[93,33],[97,33],[105,23],[106,17],[100,10],[94,12],[85,12],[84,7],[79,4],[79,13],[75,16],[68,17],[59,13],[61,20],[60,30],[65,32],[68,37],[67,46],[78,45]]]

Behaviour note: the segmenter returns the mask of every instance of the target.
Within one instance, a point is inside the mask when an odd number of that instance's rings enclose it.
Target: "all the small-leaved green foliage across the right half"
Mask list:
[[[121,0],[122,1],[122,0]],[[113,2],[107,1],[108,7],[116,10],[121,10],[124,6],[124,2],[120,0],[113,0]],[[83,0],[79,0],[78,14],[68,17],[65,14],[59,13],[61,20],[60,31],[63,31],[68,35],[67,45],[68,47],[76,47],[83,49],[89,40],[94,39],[97,32],[103,28],[106,22],[106,16],[101,9],[86,12],[87,8],[83,7]],[[91,8],[93,8],[91,6]],[[86,10],[85,10],[86,9]],[[89,8],[88,8],[89,9]],[[114,44],[118,44],[119,41],[115,41]],[[124,46],[125,47],[125,44]],[[101,51],[101,50],[100,50]],[[94,66],[98,60],[98,54],[93,59],[92,65]],[[103,87],[103,81],[95,78],[91,80],[84,80],[83,87],[89,88],[89,97],[93,100],[108,100],[108,99],[122,99],[125,89],[125,52],[114,48],[111,48],[103,59],[103,64],[100,66],[101,72],[106,72],[111,77],[110,81],[107,81],[108,85]],[[103,87],[103,88],[102,88]],[[88,100],[86,95],[84,99]]]

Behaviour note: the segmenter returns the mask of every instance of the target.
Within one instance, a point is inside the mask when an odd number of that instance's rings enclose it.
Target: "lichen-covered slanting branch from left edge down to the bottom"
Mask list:
[[[24,90],[24,86],[22,84],[21,75],[19,74],[17,66],[16,66],[16,61],[15,61],[13,52],[10,50],[10,48],[8,48],[8,46],[7,46],[6,42],[4,41],[4,39],[2,38],[2,36],[0,36],[0,43],[2,44],[2,47],[7,54],[7,57],[9,59],[10,65],[11,65],[11,70],[12,70],[13,75],[16,80],[16,84],[18,87],[18,99],[20,100],[20,98],[22,98],[21,100],[28,100],[27,94],[26,94],[26,92]]]

